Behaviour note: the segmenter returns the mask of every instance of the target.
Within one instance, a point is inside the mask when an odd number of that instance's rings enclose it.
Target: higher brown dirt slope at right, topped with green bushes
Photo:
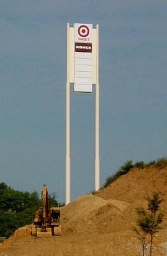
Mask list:
[[[110,186],[99,190],[96,196],[108,200],[113,198],[129,203],[126,216],[131,220],[136,218],[135,208],[147,206],[145,197],[151,196],[154,191],[163,194],[164,202],[161,209],[167,215],[167,166],[148,166],[145,168],[133,168],[126,175],[122,175]],[[166,226],[166,220],[164,220]]]

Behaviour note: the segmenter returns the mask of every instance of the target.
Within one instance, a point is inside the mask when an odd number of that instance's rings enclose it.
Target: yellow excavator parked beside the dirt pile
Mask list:
[[[36,237],[61,236],[60,210],[59,207],[50,207],[46,185],[42,188],[41,208],[34,215],[31,234]]]

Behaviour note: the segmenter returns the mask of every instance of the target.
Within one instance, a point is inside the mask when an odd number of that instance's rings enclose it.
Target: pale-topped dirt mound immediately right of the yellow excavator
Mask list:
[[[62,223],[64,234],[92,234],[98,232],[106,234],[122,230],[126,202],[119,200],[104,200],[93,195],[84,195],[62,209]],[[122,225],[115,227],[115,223]]]

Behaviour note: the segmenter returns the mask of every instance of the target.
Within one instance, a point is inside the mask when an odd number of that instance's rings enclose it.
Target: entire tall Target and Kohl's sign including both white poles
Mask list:
[[[66,82],[66,204],[70,202],[70,83],[74,92],[92,92],[95,97],[95,190],[99,189],[99,26],[67,24]]]

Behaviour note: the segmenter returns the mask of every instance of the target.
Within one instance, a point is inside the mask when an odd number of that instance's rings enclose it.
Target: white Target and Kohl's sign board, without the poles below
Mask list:
[[[98,77],[98,26],[75,23],[67,33],[68,81],[74,92],[92,92]]]

